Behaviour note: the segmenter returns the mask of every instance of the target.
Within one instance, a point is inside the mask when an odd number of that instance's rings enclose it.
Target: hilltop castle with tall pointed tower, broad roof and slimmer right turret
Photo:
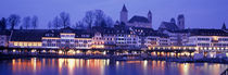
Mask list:
[[[148,16],[139,16],[135,15],[130,20],[128,20],[128,10],[127,8],[123,7],[121,11],[121,22],[125,23],[129,27],[143,27],[143,28],[152,28],[152,13],[151,11],[148,12]]]

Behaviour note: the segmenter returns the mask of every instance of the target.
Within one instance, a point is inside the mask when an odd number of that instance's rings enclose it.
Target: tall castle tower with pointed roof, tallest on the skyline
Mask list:
[[[124,4],[122,11],[121,11],[121,22],[124,22],[125,24],[127,24],[127,21],[128,21],[128,11]]]

